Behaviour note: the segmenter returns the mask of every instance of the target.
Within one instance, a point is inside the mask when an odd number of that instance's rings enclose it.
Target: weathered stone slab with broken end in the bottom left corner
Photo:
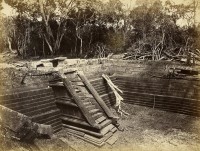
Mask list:
[[[13,136],[22,141],[33,141],[36,137],[51,137],[53,129],[50,125],[37,124],[31,119],[0,105],[0,125],[12,131]]]

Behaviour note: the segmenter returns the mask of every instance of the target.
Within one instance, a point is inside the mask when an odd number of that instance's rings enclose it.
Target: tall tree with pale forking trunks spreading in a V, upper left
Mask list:
[[[66,19],[68,13],[74,8],[74,0],[33,0],[31,2],[28,0],[7,0],[7,3],[17,10],[20,19],[22,16],[26,16],[35,24],[40,22],[41,26],[38,27],[41,29],[38,31],[45,40],[50,54],[59,53],[60,43],[65,34]]]

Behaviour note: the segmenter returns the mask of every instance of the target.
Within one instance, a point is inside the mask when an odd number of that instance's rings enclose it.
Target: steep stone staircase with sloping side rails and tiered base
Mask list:
[[[99,103],[100,96],[97,96],[98,93],[94,95],[95,90],[88,82],[83,74],[74,70],[65,72],[65,78],[57,77],[50,81],[50,86],[55,92],[56,104],[67,132],[102,146],[114,138],[117,128],[106,104],[103,100]]]

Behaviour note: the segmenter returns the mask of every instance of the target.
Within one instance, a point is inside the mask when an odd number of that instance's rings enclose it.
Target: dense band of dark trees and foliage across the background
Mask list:
[[[199,48],[197,4],[176,5],[160,0],[137,0],[125,8],[120,0],[5,0],[17,14],[2,16],[1,51],[23,58],[66,55],[105,57],[129,52],[185,55]],[[186,21],[180,26],[180,20]]]

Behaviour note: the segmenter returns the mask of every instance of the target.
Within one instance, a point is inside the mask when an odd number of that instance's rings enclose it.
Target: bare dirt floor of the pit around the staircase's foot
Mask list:
[[[200,118],[171,113],[137,105],[123,105],[130,113],[122,117],[114,145],[105,144],[98,148],[63,130],[59,137],[67,137],[76,150],[82,151],[199,151]]]

